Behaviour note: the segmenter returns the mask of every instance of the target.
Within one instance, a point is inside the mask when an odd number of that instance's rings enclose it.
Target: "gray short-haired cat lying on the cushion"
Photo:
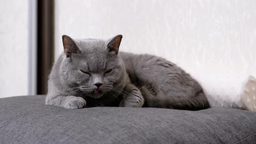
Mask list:
[[[64,53],[49,75],[46,105],[209,108],[202,87],[184,70],[157,56],[119,52],[121,39],[62,36]]]

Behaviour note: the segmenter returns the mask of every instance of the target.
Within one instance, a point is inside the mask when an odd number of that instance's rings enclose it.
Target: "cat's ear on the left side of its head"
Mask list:
[[[64,47],[64,53],[66,54],[67,57],[72,56],[72,53],[80,53],[81,50],[76,46],[74,40],[66,35],[62,36],[62,43]]]

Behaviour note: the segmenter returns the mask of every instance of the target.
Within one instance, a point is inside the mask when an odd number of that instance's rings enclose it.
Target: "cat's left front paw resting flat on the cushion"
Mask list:
[[[84,108],[86,105],[85,99],[81,97],[74,97],[69,100],[66,105],[66,108],[73,109],[73,108]]]

